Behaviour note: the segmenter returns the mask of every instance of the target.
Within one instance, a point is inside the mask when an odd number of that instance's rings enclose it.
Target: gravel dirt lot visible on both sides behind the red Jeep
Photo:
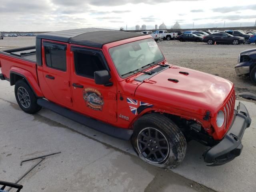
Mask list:
[[[35,37],[7,37],[0,40],[0,50],[15,48],[17,45],[32,46]],[[256,48],[250,45],[208,45],[206,43],[160,41],[158,46],[170,64],[192,68],[202,72],[218,75],[234,83],[236,93],[252,92],[256,94],[254,85],[248,76],[236,76],[234,66],[237,64],[238,54],[247,49]]]

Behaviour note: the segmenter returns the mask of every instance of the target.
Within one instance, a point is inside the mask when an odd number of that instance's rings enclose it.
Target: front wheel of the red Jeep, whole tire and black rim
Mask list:
[[[185,157],[186,139],[178,126],[161,114],[146,114],[134,124],[132,146],[138,156],[160,168],[175,168]]]

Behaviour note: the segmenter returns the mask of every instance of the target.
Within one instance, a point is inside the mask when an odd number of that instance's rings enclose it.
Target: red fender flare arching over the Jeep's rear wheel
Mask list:
[[[35,77],[32,75],[32,73],[30,73],[27,70],[24,70],[22,68],[18,68],[18,67],[11,67],[10,68],[10,84],[14,85],[15,84],[15,74],[22,76],[30,85],[30,87],[32,88],[32,90],[34,91],[34,93],[36,94],[37,97],[44,97],[44,94],[42,93]]]

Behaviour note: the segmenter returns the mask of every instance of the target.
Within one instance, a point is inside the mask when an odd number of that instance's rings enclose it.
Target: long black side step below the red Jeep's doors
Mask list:
[[[53,112],[56,112],[57,114],[60,114],[70,120],[73,120],[75,122],[78,122],[80,124],[83,124],[85,126],[88,126],[94,130],[100,131],[102,133],[108,134],[110,136],[113,136],[115,138],[119,138],[122,140],[130,140],[133,130],[124,129],[124,128],[118,128],[111,126],[109,124],[106,124],[104,122],[100,122],[98,120],[88,118],[86,116],[83,116],[81,114],[78,114],[76,112],[73,112],[67,108],[64,108],[62,106],[58,106],[52,102],[49,102],[45,99],[38,99],[37,104],[47,108]]]

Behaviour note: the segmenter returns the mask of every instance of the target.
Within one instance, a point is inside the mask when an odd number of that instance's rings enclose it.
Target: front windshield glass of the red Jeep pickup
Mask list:
[[[134,70],[150,67],[150,63],[159,63],[164,60],[161,50],[152,38],[112,47],[109,53],[122,78],[136,73],[132,72]]]

